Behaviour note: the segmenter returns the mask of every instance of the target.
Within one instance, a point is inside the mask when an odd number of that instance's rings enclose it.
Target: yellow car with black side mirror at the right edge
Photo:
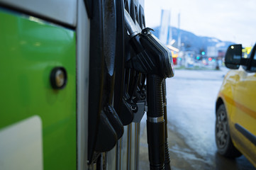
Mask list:
[[[216,145],[225,157],[245,155],[256,167],[256,45],[247,58],[230,45],[226,74],[216,101]]]

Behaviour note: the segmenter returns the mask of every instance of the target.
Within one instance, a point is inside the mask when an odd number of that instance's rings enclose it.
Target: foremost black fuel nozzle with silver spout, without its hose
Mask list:
[[[125,10],[126,29],[130,34],[130,45],[137,54],[128,65],[138,72],[157,74],[167,78],[174,76],[171,52],[150,32],[151,28],[140,30]]]

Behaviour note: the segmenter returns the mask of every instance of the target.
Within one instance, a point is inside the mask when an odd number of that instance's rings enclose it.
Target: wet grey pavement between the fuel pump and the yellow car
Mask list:
[[[167,79],[168,142],[172,170],[256,170],[244,157],[216,152],[215,102],[228,69],[175,70]],[[140,169],[149,169],[146,116],[140,125]]]

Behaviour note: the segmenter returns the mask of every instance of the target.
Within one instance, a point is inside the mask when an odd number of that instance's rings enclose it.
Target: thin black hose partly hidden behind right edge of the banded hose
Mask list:
[[[165,118],[165,170],[171,170],[168,147],[168,128],[167,128],[167,98],[166,98],[166,82],[162,81],[162,99],[164,102],[164,118]]]

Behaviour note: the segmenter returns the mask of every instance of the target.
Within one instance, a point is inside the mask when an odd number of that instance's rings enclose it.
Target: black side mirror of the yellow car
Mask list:
[[[225,65],[229,69],[238,69],[242,59],[242,45],[230,45],[225,55]]]

